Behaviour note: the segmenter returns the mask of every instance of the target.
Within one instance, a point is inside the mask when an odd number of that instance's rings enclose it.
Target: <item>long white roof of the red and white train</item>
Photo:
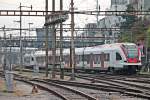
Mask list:
[[[100,52],[107,52],[110,50],[119,50],[121,45],[135,45],[134,43],[114,43],[114,44],[104,44],[104,45],[98,45],[98,46],[93,46],[93,47],[84,47],[84,48],[75,48],[75,53],[77,55],[80,54],[96,54]],[[49,55],[52,55],[52,51],[48,52]],[[63,50],[63,55],[68,55],[70,54],[70,49],[64,49]],[[44,56],[45,51],[40,50],[40,51],[35,51],[34,53],[35,56]],[[60,51],[56,50],[56,55],[60,55]]]

